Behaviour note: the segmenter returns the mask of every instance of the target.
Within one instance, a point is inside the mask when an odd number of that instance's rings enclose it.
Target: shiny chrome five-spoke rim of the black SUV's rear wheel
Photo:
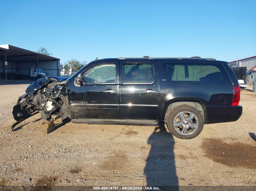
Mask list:
[[[190,135],[198,128],[198,119],[194,113],[183,111],[175,116],[173,125],[181,135]]]

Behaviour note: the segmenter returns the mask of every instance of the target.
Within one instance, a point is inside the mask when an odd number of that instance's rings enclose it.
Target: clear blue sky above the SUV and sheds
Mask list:
[[[0,44],[61,62],[256,56],[256,1],[1,1]]]

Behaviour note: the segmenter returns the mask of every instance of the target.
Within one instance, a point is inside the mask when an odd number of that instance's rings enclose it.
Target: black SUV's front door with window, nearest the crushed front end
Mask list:
[[[68,85],[71,116],[117,119],[119,115],[118,63],[115,60],[96,62],[82,72],[81,76],[85,82],[84,85],[81,87]]]

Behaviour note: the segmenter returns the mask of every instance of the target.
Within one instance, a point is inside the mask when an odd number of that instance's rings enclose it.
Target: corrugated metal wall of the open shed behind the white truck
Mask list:
[[[59,74],[59,60],[39,61],[38,68],[49,74],[49,77],[56,77]],[[29,73],[30,67],[36,67],[36,62],[19,62],[17,63],[17,72]]]

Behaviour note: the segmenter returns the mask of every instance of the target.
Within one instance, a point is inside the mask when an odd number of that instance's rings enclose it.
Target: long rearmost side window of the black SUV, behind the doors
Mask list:
[[[230,84],[230,78],[221,64],[208,63],[162,63],[173,83]]]

